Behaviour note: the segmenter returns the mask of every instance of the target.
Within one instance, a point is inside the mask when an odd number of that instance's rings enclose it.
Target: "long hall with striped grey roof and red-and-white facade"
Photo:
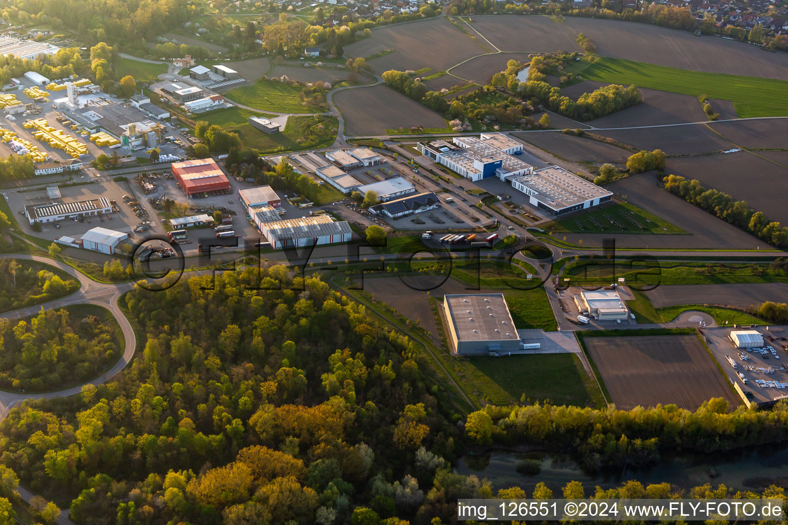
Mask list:
[[[350,242],[353,235],[348,221],[334,222],[327,215],[261,222],[258,228],[275,249]]]

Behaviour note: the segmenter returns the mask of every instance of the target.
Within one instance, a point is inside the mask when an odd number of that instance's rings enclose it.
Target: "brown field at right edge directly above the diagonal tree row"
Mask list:
[[[667,172],[698,179],[705,188],[730,194],[763,212],[769,220],[788,224],[788,206],[775,198],[775,190],[786,190],[788,168],[760,158],[760,151],[738,151],[705,157],[678,157],[667,160]],[[757,176],[753,176],[757,174]]]

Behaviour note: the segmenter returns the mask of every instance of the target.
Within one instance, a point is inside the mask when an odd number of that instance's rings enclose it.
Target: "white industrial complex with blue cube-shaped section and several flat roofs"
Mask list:
[[[504,141],[506,139],[504,135],[490,138],[491,135],[499,134],[482,134],[488,137],[487,139],[455,137],[452,139],[453,142],[445,140],[418,142],[416,147],[419,153],[474,182],[489,177],[504,180],[512,176],[533,173],[533,166],[506,152],[516,150],[516,146]],[[507,147],[506,150],[502,150],[498,146]]]

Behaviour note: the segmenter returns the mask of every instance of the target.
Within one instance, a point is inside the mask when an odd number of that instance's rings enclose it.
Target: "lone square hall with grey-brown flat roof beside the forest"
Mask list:
[[[455,355],[514,352],[520,338],[504,294],[444,295],[444,313]]]

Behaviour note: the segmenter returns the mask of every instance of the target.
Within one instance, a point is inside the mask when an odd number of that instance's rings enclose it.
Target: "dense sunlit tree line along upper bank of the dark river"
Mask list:
[[[467,416],[465,434],[477,445],[538,443],[571,452],[590,470],[655,464],[675,450],[719,453],[788,437],[786,401],[768,410],[728,409],[723,398],[712,398],[695,412],[675,405],[632,410],[548,403],[487,406]]]

